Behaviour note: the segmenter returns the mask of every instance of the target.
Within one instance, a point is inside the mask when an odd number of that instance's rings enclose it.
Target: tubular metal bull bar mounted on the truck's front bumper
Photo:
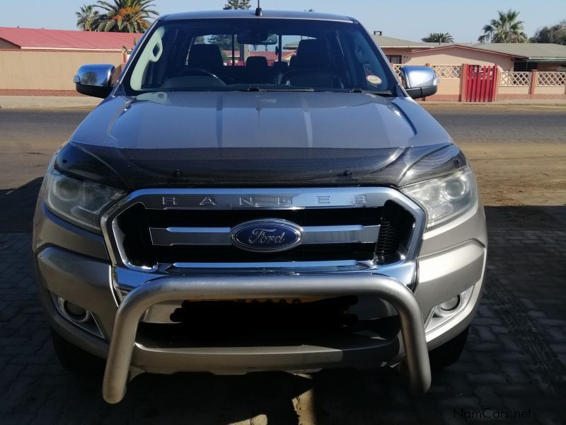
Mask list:
[[[118,308],[103,380],[103,397],[116,404],[126,393],[139,321],[152,305],[171,300],[340,297],[378,295],[398,311],[405,366],[412,392],[430,387],[431,373],[418,302],[398,280],[378,274],[174,277],[149,280],[132,290]]]

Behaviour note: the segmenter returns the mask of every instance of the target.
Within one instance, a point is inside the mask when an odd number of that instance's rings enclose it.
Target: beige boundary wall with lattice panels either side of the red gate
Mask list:
[[[400,77],[402,64],[391,64]],[[467,64],[430,65],[439,77],[436,95],[425,100],[464,101],[466,98]],[[566,99],[566,72],[499,72],[495,81],[496,100],[512,99]]]

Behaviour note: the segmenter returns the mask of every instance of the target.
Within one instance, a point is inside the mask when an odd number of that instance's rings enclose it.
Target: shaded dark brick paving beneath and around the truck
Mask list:
[[[0,423],[560,424],[566,207],[489,208],[488,218],[487,288],[466,352],[434,374],[420,399],[395,373],[342,370],[141,375],[122,404],[109,406],[100,382],[81,383],[57,363],[35,295],[29,234],[0,233]],[[514,412],[526,417],[507,419]]]

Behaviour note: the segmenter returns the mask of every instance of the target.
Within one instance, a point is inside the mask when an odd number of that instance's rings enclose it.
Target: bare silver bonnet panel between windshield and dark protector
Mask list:
[[[412,101],[344,93],[151,93],[103,102],[73,140],[122,149],[366,148],[451,142]]]

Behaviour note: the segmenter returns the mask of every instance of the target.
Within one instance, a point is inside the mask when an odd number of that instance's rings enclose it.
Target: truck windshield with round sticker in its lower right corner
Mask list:
[[[395,77],[357,23],[290,19],[162,21],[125,77],[148,91],[371,91]]]

